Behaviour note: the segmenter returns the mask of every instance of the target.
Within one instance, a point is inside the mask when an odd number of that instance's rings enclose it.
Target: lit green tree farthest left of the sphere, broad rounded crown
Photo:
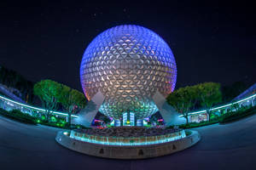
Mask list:
[[[42,80],[34,85],[33,92],[41,100],[48,116],[50,116],[49,111],[58,107],[61,89],[61,84],[52,80]]]

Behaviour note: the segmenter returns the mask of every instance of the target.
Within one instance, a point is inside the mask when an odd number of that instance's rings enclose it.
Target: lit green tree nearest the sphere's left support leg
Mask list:
[[[78,90],[62,85],[59,102],[67,111],[68,114],[68,125],[71,126],[71,115],[84,108],[87,103],[87,99],[84,94]]]

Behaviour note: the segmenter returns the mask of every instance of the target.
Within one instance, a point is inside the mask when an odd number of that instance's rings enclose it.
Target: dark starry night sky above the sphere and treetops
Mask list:
[[[125,24],[147,27],[170,45],[177,87],[256,82],[256,12],[245,1],[33,2],[0,5],[0,65],[33,82],[49,78],[82,90],[85,48],[102,31]]]

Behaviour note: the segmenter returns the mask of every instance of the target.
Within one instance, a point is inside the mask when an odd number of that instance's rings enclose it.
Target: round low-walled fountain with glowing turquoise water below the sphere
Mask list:
[[[110,127],[61,131],[55,140],[70,150],[114,159],[143,159],[184,150],[201,139],[177,128]]]

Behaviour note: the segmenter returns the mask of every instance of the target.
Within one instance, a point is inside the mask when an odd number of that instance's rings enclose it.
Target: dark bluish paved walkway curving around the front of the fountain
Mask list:
[[[171,156],[122,161],[86,156],[55,142],[59,129],[0,116],[0,169],[255,169],[256,115],[226,125],[195,128],[201,141]]]

